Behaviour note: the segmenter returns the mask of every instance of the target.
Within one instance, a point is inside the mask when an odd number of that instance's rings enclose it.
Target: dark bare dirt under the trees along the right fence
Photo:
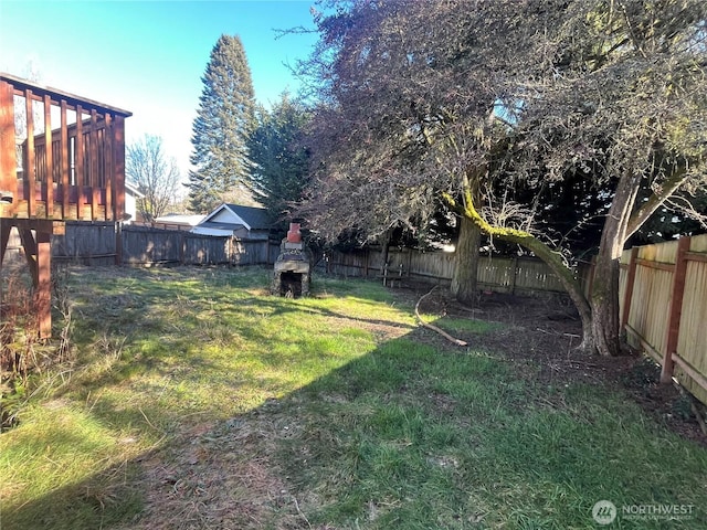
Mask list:
[[[425,286],[399,289],[400,296],[420,297],[430,290]],[[521,297],[505,294],[483,294],[474,308],[458,304],[449,292],[435,289],[425,297],[421,311],[473,318],[504,326],[478,335],[460,335],[472,348],[493,351],[523,367],[532,364],[536,381],[548,385],[583,382],[624,390],[648,415],[664,423],[683,437],[707,446],[695,407],[696,402],[682,386],[659,383],[659,365],[640,354],[604,358],[579,352],[582,327],[571,303],[562,296]],[[442,337],[426,340],[446,342]],[[450,347],[450,342],[446,342]],[[527,373],[527,371],[526,371]]]

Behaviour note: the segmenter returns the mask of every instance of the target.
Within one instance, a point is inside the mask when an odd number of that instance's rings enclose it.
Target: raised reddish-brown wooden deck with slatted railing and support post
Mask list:
[[[131,113],[0,73],[0,266],[17,227],[51,335],[51,236],[63,221],[122,221]]]

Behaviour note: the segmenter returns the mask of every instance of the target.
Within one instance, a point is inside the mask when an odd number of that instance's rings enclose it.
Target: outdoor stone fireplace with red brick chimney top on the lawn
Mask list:
[[[271,292],[273,295],[298,298],[309,294],[309,254],[299,233],[299,224],[291,223],[289,232],[279,245]]]

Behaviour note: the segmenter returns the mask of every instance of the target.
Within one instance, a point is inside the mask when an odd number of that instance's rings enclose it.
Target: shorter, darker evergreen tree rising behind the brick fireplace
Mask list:
[[[309,156],[304,145],[307,110],[287,94],[268,112],[258,108],[249,137],[249,188],[275,223],[292,221],[293,203],[307,186]]]

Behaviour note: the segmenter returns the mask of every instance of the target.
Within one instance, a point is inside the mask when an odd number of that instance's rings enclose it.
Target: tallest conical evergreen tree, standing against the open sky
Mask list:
[[[201,78],[203,91],[192,127],[193,152],[189,202],[205,213],[224,202],[225,194],[246,174],[246,138],[255,98],[251,68],[238,35],[221,35]]]

